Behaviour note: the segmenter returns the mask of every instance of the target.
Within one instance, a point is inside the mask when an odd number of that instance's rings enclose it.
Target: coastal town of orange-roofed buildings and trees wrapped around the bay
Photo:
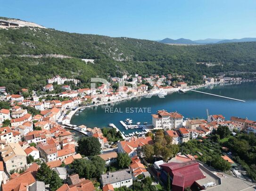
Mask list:
[[[9,94],[0,87],[1,190],[254,190],[256,175],[248,167],[253,162],[243,157],[255,162],[255,156],[232,145],[256,146],[246,142],[255,140],[254,119],[222,114],[190,119],[163,108],[149,114],[151,124],[120,121],[133,130],[128,135],[115,124],[103,129],[70,124],[87,107],[243,80],[203,76],[202,85],[189,86],[184,77],[109,76],[109,84],[80,88],[78,79],[54,76],[40,93],[24,87]],[[72,130],[82,138],[75,140]]]

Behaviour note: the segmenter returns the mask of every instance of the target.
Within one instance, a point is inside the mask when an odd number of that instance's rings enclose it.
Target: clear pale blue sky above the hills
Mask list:
[[[256,0],[0,0],[0,16],[110,37],[256,38]]]

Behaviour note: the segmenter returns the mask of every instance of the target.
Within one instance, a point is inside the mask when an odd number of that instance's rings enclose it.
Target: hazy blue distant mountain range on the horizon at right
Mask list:
[[[231,43],[231,42],[254,42],[256,38],[241,38],[241,39],[215,39],[215,38],[206,38],[203,40],[190,40],[185,38],[171,39],[165,38],[159,40],[158,42],[164,44],[181,44],[181,45],[206,45],[206,44],[221,44],[221,43]]]

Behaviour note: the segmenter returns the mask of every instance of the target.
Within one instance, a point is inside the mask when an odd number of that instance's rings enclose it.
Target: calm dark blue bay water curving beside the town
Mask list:
[[[248,117],[248,119],[256,120],[256,82],[248,82],[232,85],[216,85],[198,89],[202,92],[213,93],[235,99],[242,99],[246,102],[224,99],[198,92],[186,92],[169,94],[161,99],[158,96],[148,98],[129,99],[122,102],[114,103],[109,106],[98,106],[86,108],[83,112],[77,112],[79,115],[73,115],[71,124],[86,125],[87,127],[107,127],[109,123],[114,123],[116,127],[125,130],[120,121],[130,118],[133,122],[152,123],[151,114],[155,114],[157,110],[165,109],[168,112],[177,111],[184,118],[206,118],[206,109],[209,114],[222,114],[226,119],[231,116]],[[105,107],[114,107],[123,113],[106,113]],[[125,108],[129,107],[149,107],[151,113],[125,113]]]

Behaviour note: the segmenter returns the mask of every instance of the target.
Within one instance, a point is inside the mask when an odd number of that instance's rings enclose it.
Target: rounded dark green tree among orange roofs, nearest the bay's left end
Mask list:
[[[83,137],[78,141],[78,153],[85,156],[100,154],[100,147],[99,140],[94,137]]]

